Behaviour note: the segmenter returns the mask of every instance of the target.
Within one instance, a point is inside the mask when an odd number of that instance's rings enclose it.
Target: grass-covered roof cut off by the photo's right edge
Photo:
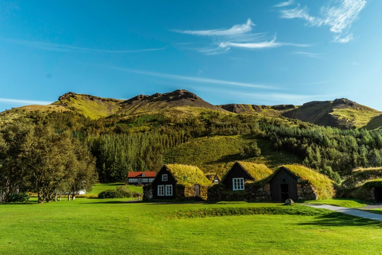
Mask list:
[[[346,188],[356,188],[367,181],[380,178],[382,178],[382,168],[358,168],[352,171],[342,185]]]

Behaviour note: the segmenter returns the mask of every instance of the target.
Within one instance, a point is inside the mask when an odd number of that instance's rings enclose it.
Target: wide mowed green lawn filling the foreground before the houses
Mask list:
[[[0,205],[0,254],[381,254],[382,223],[271,203]],[[227,215],[206,216],[202,215]],[[250,214],[250,215],[240,215]]]

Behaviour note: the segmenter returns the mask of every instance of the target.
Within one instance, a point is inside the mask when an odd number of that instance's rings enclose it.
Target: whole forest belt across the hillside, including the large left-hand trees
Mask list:
[[[382,132],[320,127],[298,120],[204,111],[183,120],[156,114],[91,120],[74,112],[31,112],[0,128],[0,187],[3,199],[33,191],[39,201],[58,192],[91,189],[101,182],[124,181],[129,171],[158,170],[166,151],[190,139],[252,134],[274,150],[287,150],[303,164],[336,182],[358,167],[382,166]],[[132,131],[148,125],[150,131]],[[152,125],[153,124],[153,125]],[[239,148],[259,156],[255,140]],[[181,162],[179,162],[181,163]]]

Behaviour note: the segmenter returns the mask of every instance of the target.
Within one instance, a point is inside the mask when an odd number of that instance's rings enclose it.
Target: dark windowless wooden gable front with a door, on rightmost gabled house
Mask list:
[[[279,168],[269,180],[272,201],[284,202],[286,199],[298,200],[297,181],[299,177],[285,167]]]

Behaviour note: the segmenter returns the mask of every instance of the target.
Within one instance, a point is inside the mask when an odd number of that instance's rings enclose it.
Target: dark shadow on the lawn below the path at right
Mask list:
[[[375,226],[382,228],[381,221],[346,215],[341,212],[331,212],[324,216],[317,216],[317,219],[314,221],[303,222],[299,223],[298,225],[319,225],[323,227]]]

